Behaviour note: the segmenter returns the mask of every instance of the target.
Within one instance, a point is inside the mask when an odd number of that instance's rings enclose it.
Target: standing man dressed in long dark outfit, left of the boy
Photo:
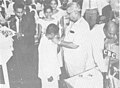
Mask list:
[[[21,3],[14,4],[14,11],[15,16],[10,21],[10,28],[16,31],[16,36],[13,37],[13,57],[8,62],[10,86],[39,88],[37,49],[34,45],[35,18],[32,13],[25,13]]]

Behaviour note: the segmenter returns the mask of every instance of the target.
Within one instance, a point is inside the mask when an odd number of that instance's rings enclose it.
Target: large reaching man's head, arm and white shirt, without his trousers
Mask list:
[[[88,37],[86,35],[89,36],[90,29],[84,18],[80,16],[80,8],[77,6],[78,4],[70,3],[70,5],[70,8],[67,9],[67,13],[74,24],[65,36],[64,41],[61,41],[60,45],[65,47],[65,63],[69,75],[73,76],[85,70],[85,62],[87,59],[86,54],[88,53],[86,50]]]

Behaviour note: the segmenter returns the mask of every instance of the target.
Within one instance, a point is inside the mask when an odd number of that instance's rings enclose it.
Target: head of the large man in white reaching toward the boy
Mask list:
[[[67,14],[69,19],[73,22],[76,22],[81,17],[81,8],[80,5],[76,2],[68,4]]]

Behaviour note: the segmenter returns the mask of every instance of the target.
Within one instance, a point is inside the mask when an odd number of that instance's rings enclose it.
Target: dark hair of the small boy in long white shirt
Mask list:
[[[46,35],[51,34],[51,33],[55,35],[59,33],[59,27],[56,24],[51,23],[48,25],[46,29]]]

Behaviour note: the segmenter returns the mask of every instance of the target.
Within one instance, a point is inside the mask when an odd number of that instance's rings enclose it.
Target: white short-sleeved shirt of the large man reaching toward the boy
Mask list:
[[[92,58],[89,47],[89,34],[89,25],[82,17],[72,25],[71,30],[65,36],[65,41],[79,45],[77,49],[64,48],[65,63],[70,76],[86,70],[86,62],[88,58]],[[94,67],[92,65],[94,65],[93,61],[88,68]]]

